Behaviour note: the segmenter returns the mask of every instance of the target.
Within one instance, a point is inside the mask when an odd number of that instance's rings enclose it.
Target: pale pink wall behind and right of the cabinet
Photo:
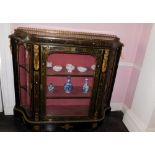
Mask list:
[[[139,69],[143,62],[152,24],[11,24],[12,31],[19,26],[110,33],[117,35],[121,39],[121,42],[124,43],[124,47],[112,95],[112,102],[120,102],[126,104],[128,107],[131,106],[139,76]],[[135,67],[136,65],[138,68]]]

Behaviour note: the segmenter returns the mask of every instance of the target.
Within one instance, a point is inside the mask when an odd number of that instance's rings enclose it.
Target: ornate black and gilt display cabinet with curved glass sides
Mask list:
[[[114,35],[17,28],[14,114],[33,129],[96,127],[110,112],[123,44]]]

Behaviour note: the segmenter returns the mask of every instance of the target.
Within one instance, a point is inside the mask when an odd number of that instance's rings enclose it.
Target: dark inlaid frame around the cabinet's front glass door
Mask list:
[[[95,102],[97,97],[97,88],[99,84],[99,77],[101,72],[101,65],[102,65],[102,55],[103,50],[102,49],[94,49],[94,48],[88,48],[88,47],[77,47],[77,46],[63,46],[63,45],[41,45],[41,83],[40,83],[40,117],[42,120],[48,120],[48,117],[46,117],[46,61],[48,54],[52,53],[58,53],[56,51],[59,51],[59,53],[65,53],[65,54],[84,54],[84,55],[92,55],[96,57],[96,70],[95,70],[95,76],[93,84],[93,96],[91,97],[90,102],[90,108],[89,108],[89,114],[87,117],[80,116],[79,119],[93,119],[94,118],[94,108],[95,108]],[[96,80],[95,80],[96,79]],[[59,117],[59,118],[58,118]],[[74,118],[73,118],[74,117]],[[66,120],[66,119],[78,119],[78,116],[53,116],[52,120]]]

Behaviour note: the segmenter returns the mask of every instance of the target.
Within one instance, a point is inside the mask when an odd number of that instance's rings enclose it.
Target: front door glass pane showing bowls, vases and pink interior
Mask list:
[[[96,58],[82,54],[49,54],[46,115],[88,116]]]

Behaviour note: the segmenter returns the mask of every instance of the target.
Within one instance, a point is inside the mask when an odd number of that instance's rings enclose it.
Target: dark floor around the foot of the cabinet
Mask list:
[[[127,128],[122,122],[123,113],[121,111],[111,112],[106,116],[102,124],[96,129],[90,127],[79,127],[77,129],[70,129],[70,132],[128,132]],[[50,126],[49,131],[65,132],[65,129],[55,129]],[[4,116],[0,113],[0,132],[30,132],[21,121],[18,121],[14,116]]]

